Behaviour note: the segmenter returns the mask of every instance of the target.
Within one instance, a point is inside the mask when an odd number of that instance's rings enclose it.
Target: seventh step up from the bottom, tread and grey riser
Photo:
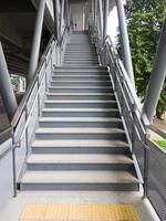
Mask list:
[[[48,108],[117,108],[116,101],[45,101]]]

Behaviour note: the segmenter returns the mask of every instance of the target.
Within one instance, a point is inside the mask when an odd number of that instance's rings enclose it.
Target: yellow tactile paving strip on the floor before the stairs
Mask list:
[[[20,221],[139,221],[134,204],[25,204]]]

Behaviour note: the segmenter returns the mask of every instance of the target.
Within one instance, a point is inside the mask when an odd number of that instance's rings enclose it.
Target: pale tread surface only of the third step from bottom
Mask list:
[[[106,139],[56,139],[56,140],[34,140],[32,147],[128,147],[123,140]]]

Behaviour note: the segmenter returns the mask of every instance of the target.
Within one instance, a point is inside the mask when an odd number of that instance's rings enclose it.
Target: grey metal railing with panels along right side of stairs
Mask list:
[[[151,139],[149,129],[155,128],[142,115],[142,104],[111,38],[106,36],[102,44],[94,27],[90,28],[90,35],[101,64],[110,70],[137,176],[143,182],[144,197],[149,199],[160,220],[166,220],[166,152]]]

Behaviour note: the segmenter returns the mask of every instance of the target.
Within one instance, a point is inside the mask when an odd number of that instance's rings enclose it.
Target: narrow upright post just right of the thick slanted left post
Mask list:
[[[60,13],[59,13],[59,0],[53,0],[54,11],[54,35],[56,36],[58,43],[60,42]]]

